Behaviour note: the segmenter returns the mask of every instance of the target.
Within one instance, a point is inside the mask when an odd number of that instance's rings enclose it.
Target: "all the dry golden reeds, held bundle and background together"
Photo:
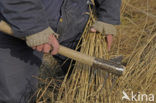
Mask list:
[[[45,103],[47,98],[51,103],[128,103],[121,101],[123,90],[156,95],[155,10],[155,0],[123,1],[122,24],[117,27],[118,35],[111,52],[106,50],[105,37],[89,32],[94,21],[90,18],[81,38],[82,44],[77,48],[81,47],[82,53],[105,59],[123,55],[123,62],[127,65],[122,77],[77,62],[70,78],[67,78],[68,74],[65,76],[59,90],[55,89],[57,85],[54,86],[50,78],[50,82],[43,82],[46,86],[41,88],[39,97]],[[53,86],[48,89],[50,85]]]

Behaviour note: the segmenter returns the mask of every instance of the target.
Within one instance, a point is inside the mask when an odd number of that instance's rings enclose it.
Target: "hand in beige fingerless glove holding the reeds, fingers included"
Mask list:
[[[100,32],[107,38],[107,47],[108,51],[110,51],[113,35],[116,35],[116,28],[112,24],[104,23],[102,21],[95,21],[95,23],[91,27],[91,32]]]

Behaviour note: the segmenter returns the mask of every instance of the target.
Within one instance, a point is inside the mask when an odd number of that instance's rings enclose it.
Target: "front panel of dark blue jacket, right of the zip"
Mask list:
[[[87,0],[64,0],[61,8],[62,22],[57,26],[60,43],[82,34],[89,18],[87,12],[89,13]]]

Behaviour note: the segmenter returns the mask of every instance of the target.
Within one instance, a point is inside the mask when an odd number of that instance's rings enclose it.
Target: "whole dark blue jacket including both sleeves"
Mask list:
[[[11,25],[15,37],[25,37],[50,26],[61,35],[60,41],[66,41],[83,32],[89,17],[88,1],[0,0],[0,18]],[[100,21],[120,23],[121,0],[95,0],[95,3]]]

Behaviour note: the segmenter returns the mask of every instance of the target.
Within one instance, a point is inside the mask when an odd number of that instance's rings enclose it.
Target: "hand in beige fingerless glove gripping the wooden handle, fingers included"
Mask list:
[[[59,43],[55,37],[57,35],[50,27],[47,29],[26,37],[26,43],[29,47],[44,53],[56,55],[59,50]]]

